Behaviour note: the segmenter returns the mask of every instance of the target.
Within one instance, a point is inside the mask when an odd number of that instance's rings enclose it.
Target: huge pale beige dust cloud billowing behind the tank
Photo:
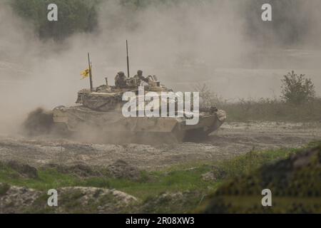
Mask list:
[[[102,1],[98,29],[73,34],[60,43],[39,40],[33,26],[1,2],[0,132],[14,129],[34,108],[73,105],[77,91],[88,87],[80,76],[88,64],[87,52],[91,53],[94,86],[101,85],[104,77],[113,84],[117,71],[126,72],[126,39],[131,76],[142,69],[175,90],[207,83],[225,98],[272,96],[279,93],[280,76],[300,63],[305,70],[298,73],[309,74],[320,95],[320,64],[315,58],[320,60],[321,55],[313,49],[321,31],[314,29],[319,26],[319,2],[300,8],[312,17],[307,20],[312,28],[290,47],[275,33],[268,38],[263,33],[255,36],[260,24],[250,27],[248,19],[254,15],[260,20],[256,1],[254,10],[254,1],[249,0],[155,2],[136,9],[117,0]],[[309,10],[313,12],[306,14]]]

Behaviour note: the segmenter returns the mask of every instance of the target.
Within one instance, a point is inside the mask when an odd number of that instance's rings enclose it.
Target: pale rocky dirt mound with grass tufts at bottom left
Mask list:
[[[57,189],[58,207],[49,207],[46,192],[0,183],[0,213],[125,213],[138,199],[118,190],[98,187]]]

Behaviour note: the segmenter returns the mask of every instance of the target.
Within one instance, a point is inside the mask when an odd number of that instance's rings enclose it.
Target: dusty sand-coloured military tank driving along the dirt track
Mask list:
[[[98,86],[78,92],[72,107],[58,106],[53,110],[54,125],[63,132],[72,133],[88,140],[107,142],[183,142],[200,140],[220,128],[225,121],[225,111],[215,107],[200,109],[196,125],[186,124],[183,117],[124,117],[122,115],[123,93],[137,94],[139,78],[126,78],[123,86]],[[172,90],[161,84],[156,76],[144,81],[144,91],[162,92]],[[169,102],[169,101],[168,101]]]

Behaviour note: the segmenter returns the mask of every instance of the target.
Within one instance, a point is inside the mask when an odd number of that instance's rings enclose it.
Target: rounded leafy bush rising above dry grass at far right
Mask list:
[[[305,78],[304,74],[298,76],[294,71],[283,76],[282,96],[285,102],[300,104],[311,101],[315,98],[315,85],[310,78]]]

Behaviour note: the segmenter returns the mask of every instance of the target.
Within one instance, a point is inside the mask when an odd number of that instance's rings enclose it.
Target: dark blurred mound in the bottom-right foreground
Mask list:
[[[262,206],[271,190],[272,207]],[[321,144],[225,182],[208,200],[205,213],[320,213]]]

